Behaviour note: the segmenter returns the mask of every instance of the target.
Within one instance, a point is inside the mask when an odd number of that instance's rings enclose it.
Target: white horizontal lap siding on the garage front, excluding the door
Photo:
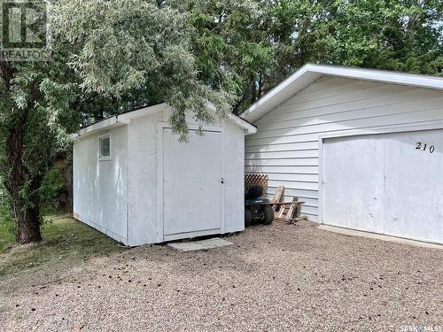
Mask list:
[[[318,217],[319,137],[379,127],[443,124],[443,93],[375,81],[323,76],[254,122],[258,133],[245,138],[245,172],[269,176],[285,196],[306,204]]]

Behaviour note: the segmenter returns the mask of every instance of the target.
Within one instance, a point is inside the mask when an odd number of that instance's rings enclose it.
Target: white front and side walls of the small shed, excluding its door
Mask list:
[[[169,108],[160,109],[128,124],[116,124],[120,127],[86,135],[74,144],[74,213],[77,219],[131,246],[163,241],[158,213],[158,191],[162,185],[158,174],[158,127],[160,123],[167,126],[169,114]],[[188,121],[195,125],[191,117]],[[221,209],[225,218],[224,231],[240,231],[245,224],[245,129],[220,117],[216,117],[211,126],[223,128],[222,188],[225,194]],[[109,161],[99,161],[98,138],[108,133],[112,156]],[[178,140],[178,136],[175,138]],[[186,206],[176,206],[176,209],[185,211]]]

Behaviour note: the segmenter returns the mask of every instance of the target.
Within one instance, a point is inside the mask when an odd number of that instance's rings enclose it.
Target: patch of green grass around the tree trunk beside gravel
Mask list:
[[[11,225],[0,225],[0,276],[122,251],[112,238],[73,218],[51,216],[46,220],[43,241],[25,245],[14,245]]]

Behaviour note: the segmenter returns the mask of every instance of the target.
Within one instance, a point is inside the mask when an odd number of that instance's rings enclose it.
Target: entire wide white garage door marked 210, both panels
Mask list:
[[[323,223],[443,243],[443,130],[325,139]]]

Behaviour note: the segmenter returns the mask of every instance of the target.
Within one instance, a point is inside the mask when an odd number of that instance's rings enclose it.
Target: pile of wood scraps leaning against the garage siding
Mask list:
[[[282,202],[281,199],[283,196],[284,186],[278,186],[274,197],[270,200],[272,208],[274,209],[274,220],[290,224],[299,220],[307,220],[307,216],[298,216],[299,205],[305,202],[299,201],[297,197],[293,197],[291,202]]]

